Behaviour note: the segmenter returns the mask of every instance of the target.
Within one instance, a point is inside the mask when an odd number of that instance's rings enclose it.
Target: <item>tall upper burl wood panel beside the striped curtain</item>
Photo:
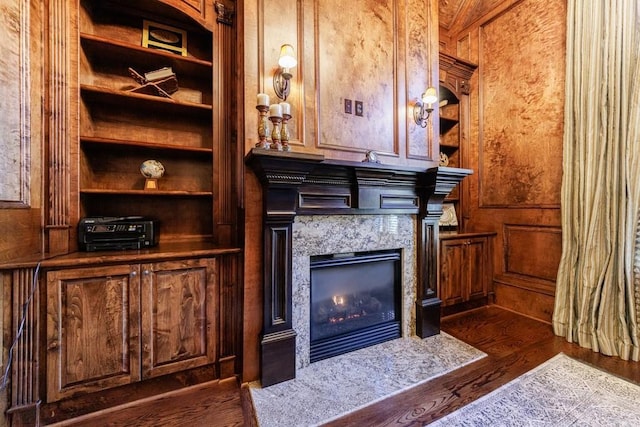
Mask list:
[[[522,1],[480,27],[480,204],[557,206],[562,179],[564,22]]]

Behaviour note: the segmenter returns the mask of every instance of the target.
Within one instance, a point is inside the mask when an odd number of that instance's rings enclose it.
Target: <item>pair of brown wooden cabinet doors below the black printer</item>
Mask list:
[[[212,259],[47,273],[47,401],[215,362]]]

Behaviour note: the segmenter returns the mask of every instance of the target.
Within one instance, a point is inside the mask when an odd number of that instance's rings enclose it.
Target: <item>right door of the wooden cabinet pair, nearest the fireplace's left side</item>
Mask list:
[[[142,377],[215,361],[217,284],[214,260],[143,264]]]

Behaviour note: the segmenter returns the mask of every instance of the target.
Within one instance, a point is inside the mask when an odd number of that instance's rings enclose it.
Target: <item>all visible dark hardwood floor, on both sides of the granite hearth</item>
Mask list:
[[[442,330],[484,351],[488,357],[327,425],[421,426],[484,396],[560,352],[640,383],[638,363],[569,344],[555,337],[550,325],[498,307],[444,318]],[[234,381],[202,385],[60,425],[255,426],[246,393]]]

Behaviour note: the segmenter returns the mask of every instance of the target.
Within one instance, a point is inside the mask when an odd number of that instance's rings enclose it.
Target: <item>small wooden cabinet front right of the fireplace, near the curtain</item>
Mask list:
[[[491,239],[495,233],[442,233],[440,283],[443,311],[486,304],[490,296]]]

